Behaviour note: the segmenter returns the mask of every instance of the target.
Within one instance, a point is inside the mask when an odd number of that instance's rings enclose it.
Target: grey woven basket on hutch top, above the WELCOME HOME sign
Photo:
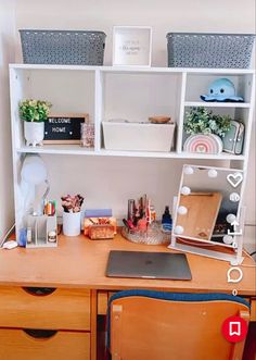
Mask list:
[[[20,30],[24,63],[103,65],[103,32]]]

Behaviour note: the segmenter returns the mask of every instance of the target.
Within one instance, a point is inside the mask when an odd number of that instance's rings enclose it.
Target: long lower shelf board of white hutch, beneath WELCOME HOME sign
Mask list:
[[[43,147],[22,147],[17,148],[17,153],[55,153],[55,154],[73,154],[73,156],[98,156],[98,157],[127,157],[127,158],[161,158],[161,159],[199,159],[199,160],[244,160],[244,156],[233,156],[229,153],[221,154],[204,154],[204,153],[188,153],[188,152],[156,152],[156,151],[120,151],[120,150],[89,150],[79,146],[54,148],[51,146]]]

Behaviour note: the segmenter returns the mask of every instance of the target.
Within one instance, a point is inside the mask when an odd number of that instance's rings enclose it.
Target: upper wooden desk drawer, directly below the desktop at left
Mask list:
[[[28,290],[0,288],[0,327],[90,330],[89,290],[59,288],[48,295]]]

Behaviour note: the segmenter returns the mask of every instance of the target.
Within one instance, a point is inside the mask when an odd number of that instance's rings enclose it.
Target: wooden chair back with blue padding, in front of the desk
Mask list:
[[[249,319],[239,297],[151,290],[115,294],[108,315],[112,360],[241,360],[244,342],[227,342],[221,326]]]

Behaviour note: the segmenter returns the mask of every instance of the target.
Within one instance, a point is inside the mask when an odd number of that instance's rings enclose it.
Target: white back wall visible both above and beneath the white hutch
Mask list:
[[[165,66],[167,62],[165,36],[168,32],[254,33],[255,0],[18,0],[16,4],[16,29],[104,30],[107,34],[105,64],[112,63],[113,25],[152,26],[152,63]],[[21,61],[18,34],[16,34],[16,60]],[[255,139],[252,149],[255,149]],[[136,161],[136,159],[87,158],[82,161],[82,169],[77,164],[80,160],[74,161],[68,157],[66,160],[63,157],[57,159],[46,157],[46,161],[51,176],[55,175],[52,188],[55,196],[60,196],[57,182],[63,183],[63,178],[66,178],[63,190],[84,191],[88,206],[113,206],[119,215],[126,211],[126,199],[140,196],[141,191],[152,193],[154,201],[158,202],[158,208],[163,208],[165,202],[169,202],[178,186],[177,179],[172,186],[172,174],[181,166],[180,161],[149,159]],[[246,193],[247,222],[255,223],[254,196],[252,196],[255,194],[255,151],[251,152],[249,162]],[[59,166],[61,171],[57,170]],[[130,173],[132,169],[136,181],[132,181],[131,186],[128,179],[132,179]],[[157,191],[159,187],[161,195]]]

